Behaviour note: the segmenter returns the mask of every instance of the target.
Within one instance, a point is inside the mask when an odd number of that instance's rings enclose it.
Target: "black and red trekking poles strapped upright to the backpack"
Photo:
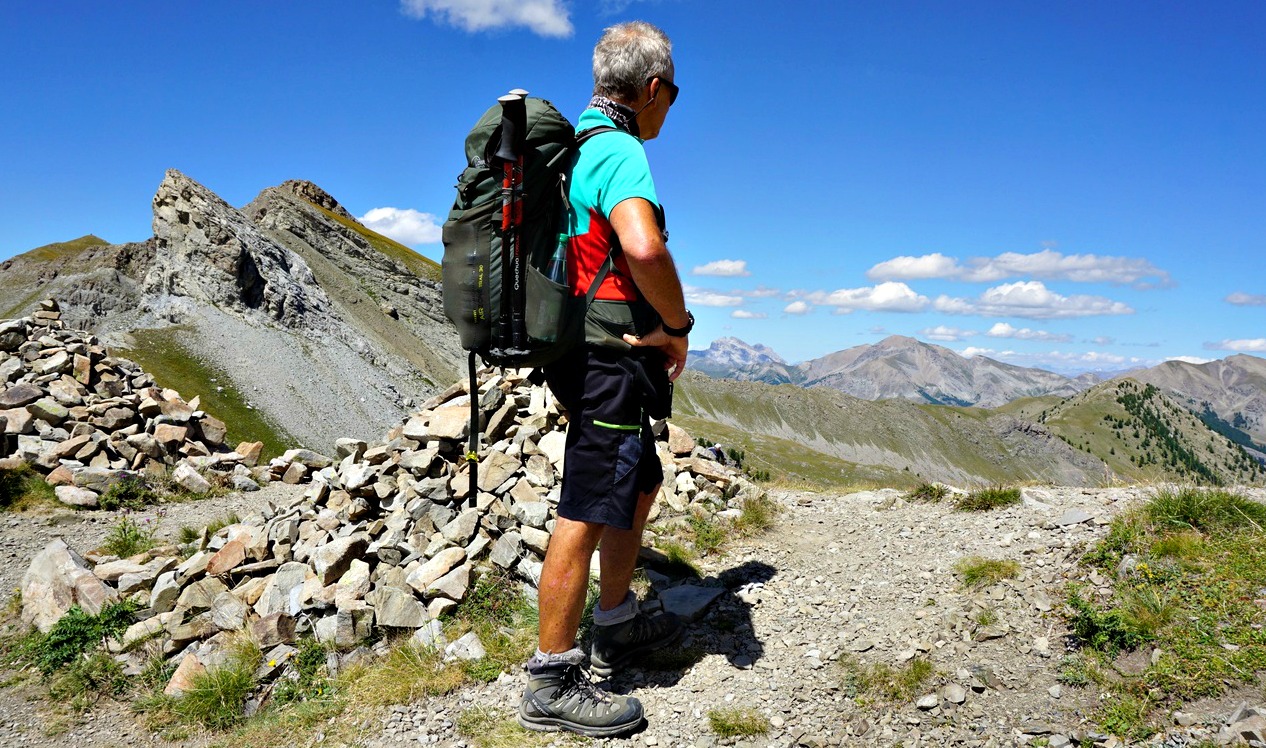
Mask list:
[[[501,266],[510,268],[510,284],[501,286],[501,343],[522,348],[525,330],[523,320],[523,251],[519,228],[523,224],[523,135],[527,128],[527,101],[518,94],[506,94],[501,103],[501,142],[496,157],[501,159]],[[506,314],[509,310],[509,314]]]

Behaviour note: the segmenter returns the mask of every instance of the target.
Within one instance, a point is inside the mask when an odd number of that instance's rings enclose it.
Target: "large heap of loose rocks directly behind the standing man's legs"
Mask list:
[[[436,645],[438,618],[481,575],[500,570],[536,586],[560,495],[566,415],[548,390],[485,371],[473,396],[487,439],[473,496],[463,443],[471,394],[454,385],[384,443],[343,439],[337,462],[309,451],[273,461],[282,480],[310,481],[304,495],[204,534],[191,554],[80,557],[49,544],[24,578],[23,616],[48,630],[72,604],[95,613],[132,600],[142,611],[118,657],[129,672],[156,652],[177,658],[172,690],[222,662],[234,632],[249,632],[271,663],[284,663],[304,634],[351,648],[376,629],[411,630]],[[736,513],[760,494],[685,432],[665,427],[661,437],[657,513]],[[477,642],[448,647],[480,656]]]

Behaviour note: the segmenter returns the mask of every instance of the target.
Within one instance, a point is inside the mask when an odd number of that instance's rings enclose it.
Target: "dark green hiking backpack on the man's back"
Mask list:
[[[549,363],[582,339],[585,313],[613,262],[608,257],[586,296],[572,296],[565,181],[580,140],[553,104],[519,94],[504,96],[466,135],[442,263],[444,314],[462,348],[514,368]],[[586,130],[581,140],[614,129]]]

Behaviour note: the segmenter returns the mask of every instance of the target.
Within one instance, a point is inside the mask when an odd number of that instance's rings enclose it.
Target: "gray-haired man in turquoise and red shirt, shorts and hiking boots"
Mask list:
[[[676,615],[639,606],[629,589],[663,475],[651,419],[668,415],[670,382],[685,368],[694,327],[643,149],[677,99],[675,72],[672,44],[658,28],[632,22],[606,29],[594,48],[594,97],[576,125],[577,134],[615,129],[584,142],[567,180],[572,294],[584,295],[609,256],[614,262],[590,308],[585,344],[546,367],[568,428],[558,520],[541,573],[539,648],[519,706],[529,729],[601,737],[642,724],[637,699],[590,682],[576,642],[595,548],[595,675],[608,677],[682,633]]]

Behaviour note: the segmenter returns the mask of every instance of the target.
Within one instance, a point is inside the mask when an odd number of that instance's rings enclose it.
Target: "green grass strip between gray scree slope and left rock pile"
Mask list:
[[[135,330],[135,347],[119,353],[135,361],[165,387],[186,399],[200,396],[203,410],[228,424],[228,442],[263,442],[262,459],[281,454],[295,439],[247,402],[218,366],[194,356],[181,342],[187,328]]]

